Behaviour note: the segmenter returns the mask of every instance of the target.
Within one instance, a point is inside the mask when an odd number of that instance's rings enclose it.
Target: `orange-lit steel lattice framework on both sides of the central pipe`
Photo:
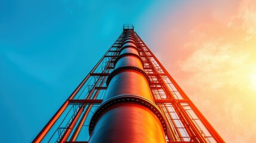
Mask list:
[[[166,142],[224,142],[136,32],[134,35],[150,90],[166,121]],[[123,41],[124,33],[33,142],[88,142],[91,117],[106,94],[107,77],[114,70]]]

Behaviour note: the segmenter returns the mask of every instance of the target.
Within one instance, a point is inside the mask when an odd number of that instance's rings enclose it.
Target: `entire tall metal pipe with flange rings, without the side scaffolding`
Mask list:
[[[125,32],[106,96],[92,116],[89,142],[166,142],[164,117],[153,103],[133,30]]]

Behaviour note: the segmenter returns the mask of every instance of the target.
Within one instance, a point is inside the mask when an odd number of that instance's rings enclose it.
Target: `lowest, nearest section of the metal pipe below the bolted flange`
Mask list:
[[[155,114],[142,105],[124,103],[110,107],[92,131],[89,142],[166,142]]]

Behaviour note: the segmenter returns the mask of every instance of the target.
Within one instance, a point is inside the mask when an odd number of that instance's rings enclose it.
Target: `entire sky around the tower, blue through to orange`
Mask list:
[[[133,23],[227,142],[256,141],[256,2],[0,1],[0,141],[31,142]]]

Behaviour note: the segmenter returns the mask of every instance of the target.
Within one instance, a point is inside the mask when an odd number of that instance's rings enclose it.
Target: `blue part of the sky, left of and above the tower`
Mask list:
[[[0,1],[1,141],[32,141],[122,24],[149,38],[161,8],[153,1]]]

